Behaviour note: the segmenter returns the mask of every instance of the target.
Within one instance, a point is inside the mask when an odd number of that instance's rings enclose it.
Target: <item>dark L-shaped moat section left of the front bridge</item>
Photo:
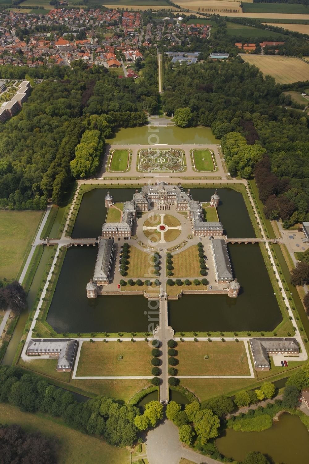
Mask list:
[[[148,300],[144,296],[86,296],[97,247],[69,248],[46,321],[63,332],[147,332]],[[145,314],[146,313],[146,314]]]

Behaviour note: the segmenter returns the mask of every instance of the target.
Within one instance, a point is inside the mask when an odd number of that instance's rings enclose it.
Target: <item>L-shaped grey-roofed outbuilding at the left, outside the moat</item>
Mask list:
[[[70,372],[72,370],[77,340],[72,338],[38,338],[30,340],[26,354],[28,356],[48,356],[58,359],[56,371]]]

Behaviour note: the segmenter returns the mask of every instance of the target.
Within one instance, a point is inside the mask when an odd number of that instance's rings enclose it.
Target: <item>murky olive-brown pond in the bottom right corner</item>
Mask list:
[[[243,461],[250,451],[260,451],[274,463],[308,464],[309,432],[297,416],[285,412],[263,432],[228,429],[216,440],[216,446],[221,454],[237,461]]]

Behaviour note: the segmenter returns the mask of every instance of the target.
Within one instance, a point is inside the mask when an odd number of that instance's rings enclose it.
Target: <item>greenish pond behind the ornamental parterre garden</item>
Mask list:
[[[218,144],[219,140],[212,135],[210,127],[158,127],[158,126],[141,126],[126,127],[115,132],[115,136],[106,140],[111,145],[206,145]]]

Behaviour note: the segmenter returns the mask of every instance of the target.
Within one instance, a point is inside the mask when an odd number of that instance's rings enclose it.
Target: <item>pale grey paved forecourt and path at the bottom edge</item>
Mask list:
[[[217,464],[219,462],[184,448],[179,441],[178,428],[167,419],[154,430],[148,432],[146,452],[149,464],[179,464],[181,458],[187,458],[198,464]]]

